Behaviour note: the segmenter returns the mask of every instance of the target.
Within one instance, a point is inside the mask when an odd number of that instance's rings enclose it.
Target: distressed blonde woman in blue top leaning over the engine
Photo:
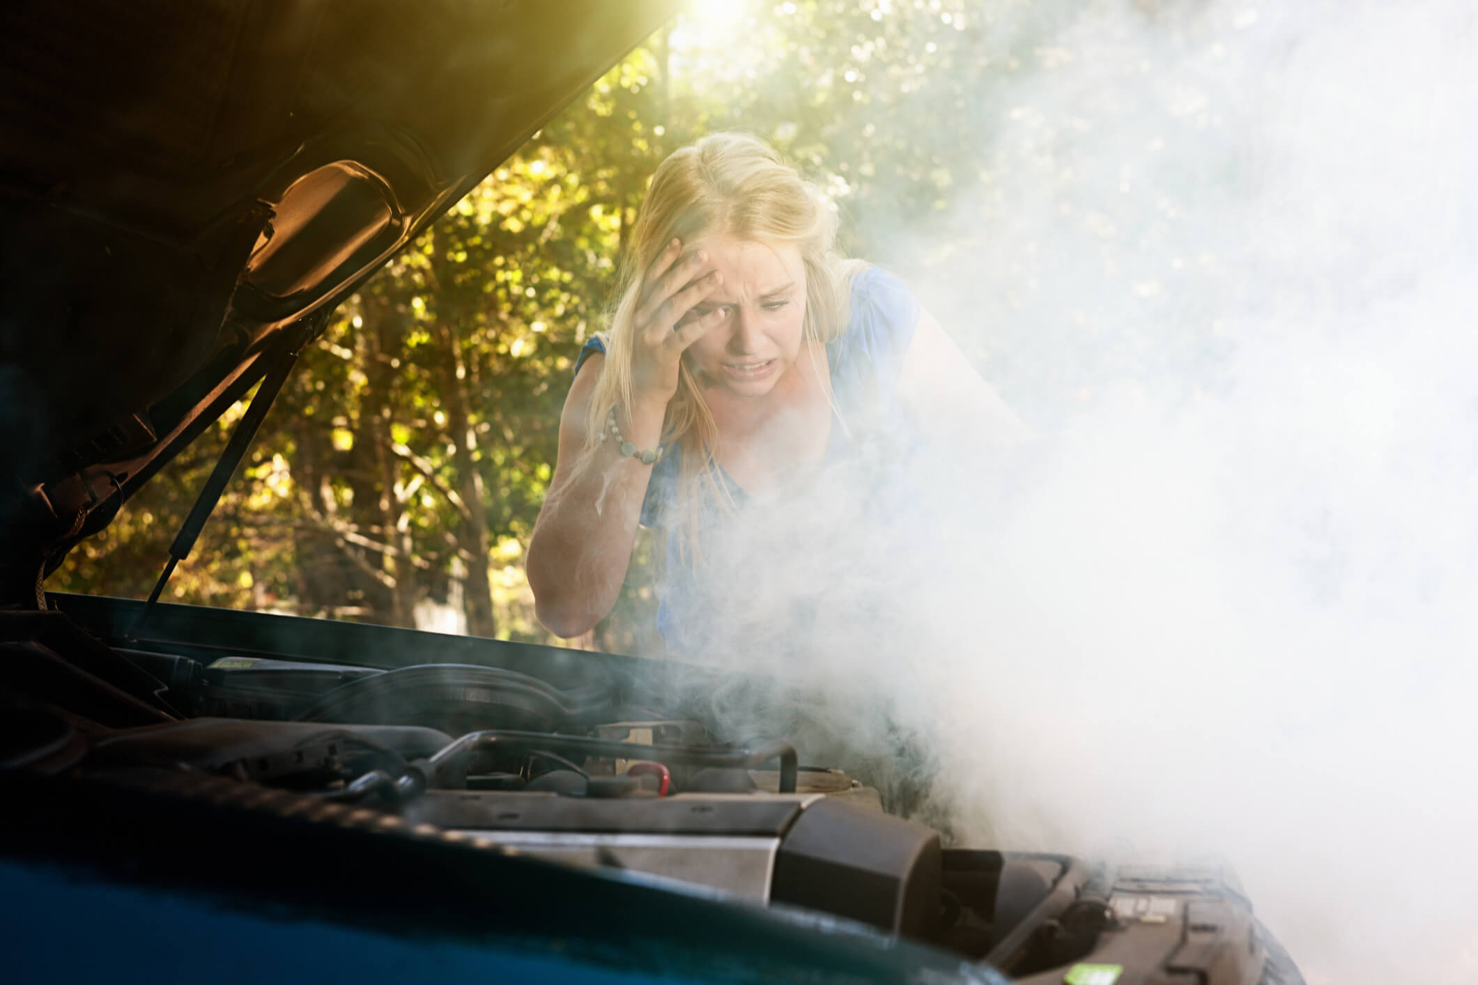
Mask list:
[[[1021,434],[907,288],[841,258],[835,235],[829,202],[755,137],[712,134],[658,167],[529,543],[551,632],[610,610],[640,523],[668,532],[662,635],[699,645],[701,588],[736,574],[712,549],[735,517],[879,440],[975,456]]]

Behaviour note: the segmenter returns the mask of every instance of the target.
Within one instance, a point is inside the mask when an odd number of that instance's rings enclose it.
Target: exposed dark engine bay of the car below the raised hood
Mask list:
[[[590,654],[587,673],[556,684],[488,663],[106,645],[65,619],[35,613],[28,638],[12,625],[0,642],[9,771],[619,870],[854,921],[1015,981],[1075,967],[1119,969],[1114,982],[1298,981],[1270,976],[1268,942],[1224,873],[952,843],[866,775],[684,715],[675,666],[647,662],[637,681]]]

